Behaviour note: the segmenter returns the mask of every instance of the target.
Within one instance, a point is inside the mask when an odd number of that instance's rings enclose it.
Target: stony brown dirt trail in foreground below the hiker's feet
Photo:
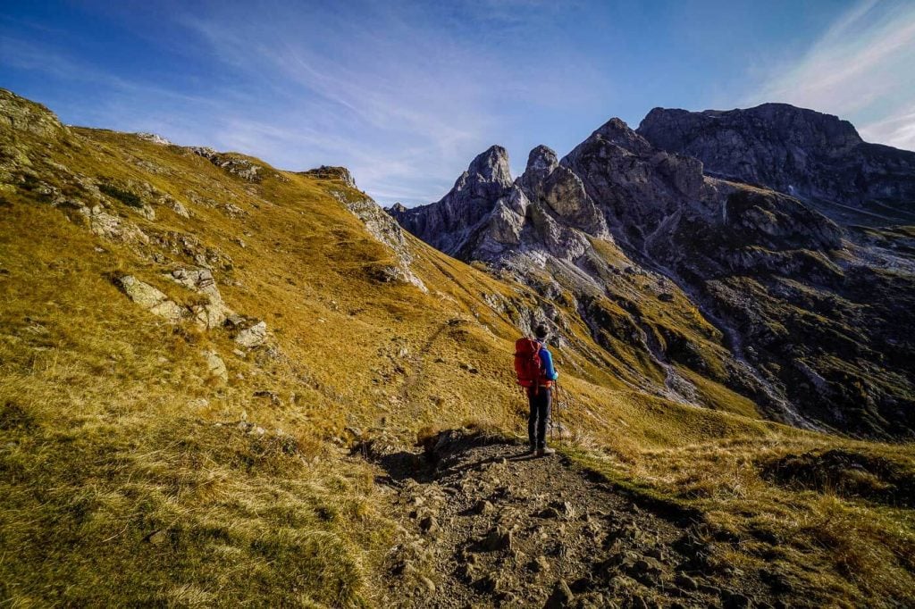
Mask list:
[[[562,456],[449,430],[425,454],[365,454],[402,527],[382,606],[780,606],[710,566],[694,515],[637,500]],[[705,573],[714,572],[714,577]]]

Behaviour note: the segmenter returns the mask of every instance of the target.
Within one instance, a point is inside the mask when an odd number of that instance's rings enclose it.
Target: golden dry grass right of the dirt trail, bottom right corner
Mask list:
[[[718,544],[718,559],[732,568],[776,573],[794,594],[802,593],[814,604],[910,604],[915,600],[910,504],[885,489],[861,497],[764,475],[766,465],[786,455],[836,449],[884,460],[909,485],[915,482],[915,452],[909,445],[815,434],[737,437],[627,458],[572,453],[580,464],[637,495],[701,514],[711,538],[728,540]]]

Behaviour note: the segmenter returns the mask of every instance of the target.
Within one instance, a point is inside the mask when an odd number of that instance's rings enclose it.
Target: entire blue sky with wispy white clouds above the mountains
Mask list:
[[[415,205],[490,144],[517,175],[655,106],[791,102],[915,149],[915,2],[5,0],[0,86]]]

